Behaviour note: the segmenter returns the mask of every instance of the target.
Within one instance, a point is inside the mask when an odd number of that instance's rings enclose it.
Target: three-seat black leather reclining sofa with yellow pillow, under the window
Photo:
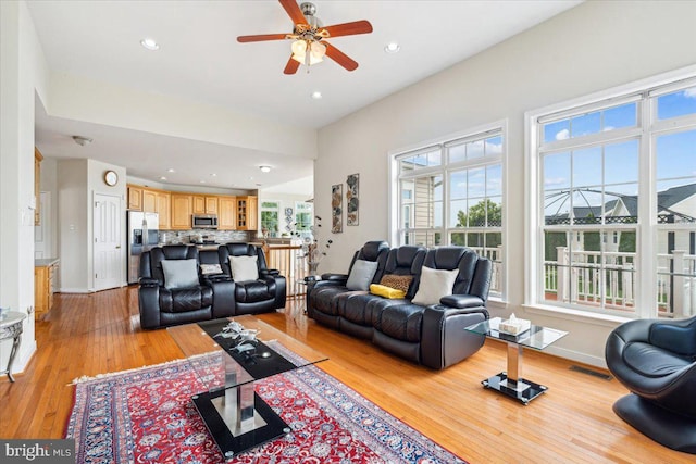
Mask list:
[[[388,299],[346,287],[357,260],[377,262],[372,279],[378,284],[385,275],[412,276],[401,299]],[[384,264],[382,264],[382,262]],[[457,269],[452,294],[438,304],[412,302],[423,266]],[[492,263],[464,247],[425,250],[405,246],[389,249],[373,241],[356,252],[348,274],[324,274],[307,294],[309,317],[322,325],[369,339],[385,351],[434,369],[442,369],[472,355],[483,346],[483,336],[464,327],[488,318],[486,301]]]

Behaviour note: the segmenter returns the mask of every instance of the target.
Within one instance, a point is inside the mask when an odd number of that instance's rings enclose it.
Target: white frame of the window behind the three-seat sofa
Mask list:
[[[486,140],[494,137],[500,137],[502,140],[502,148],[498,154],[489,154],[483,156],[476,156],[471,160],[462,160],[453,163],[449,163],[448,148],[452,146],[460,146],[472,141]],[[506,204],[508,204],[508,188],[506,185],[507,179],[507,152],[509,146],[508,135],[508,121],[500,120],[490,124],[473,127],[465,131],[459,131],[448,136],[440,137],[436,140],[425,141],[418,146],[406,147],[398,150],[393,150],[388,153],[389,162],[389,190],[388,190],[388,204],[389,204],[389,239],[391,243],[396,246],[405,244],[405,229],[402,225],[402,190],[401,180],[412,179],[422,176],[440,176],[443,179],[443,195],[442,195],[442,224],[436,227],[410,227],[409,231],[433,234],[432,240],[435,241],[435,234],[439,234],[439,243],[428,248],[437,248],[448,246],[451,240],[452,233],[500,233],[501,235],[501,253],[499,265],[499,293],[492,293],[489,300],[492,301],[507,301],[508,292],[508,276],[507,276],[507,250],[508,238],[506,234]],[[434,148],[440,150],[442,164],[439,166],[424,166],[414,170],[412,173],[403,174],[400,165],[400,161],[418,154],[425,154],[433,151]],[[501,224],[496,227],[495,230],[490,230],[488,227],[455,227],[453,224],[449,224],[450,216],[450,175],[453,172],[460,172],[462,170],[474,170],[487,166],[500,166],[500,197],[501,201]],[[487,195],[484,199],[488,199]],[[437,200],[439,201],[439,200]],[[414,204],[414,203],[413,203]],[[408,205],[406,205],[408,206]],[[412,218],[411,218],[412,220]]]

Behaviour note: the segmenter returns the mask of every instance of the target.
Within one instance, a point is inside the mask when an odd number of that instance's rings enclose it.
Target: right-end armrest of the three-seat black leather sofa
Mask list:
[[[488,311],[477,308],[449,308],[440,304],[423,311],[421,362],[434,369],[443,369],[474,354],[486,337],[464,330],[488,318]]]

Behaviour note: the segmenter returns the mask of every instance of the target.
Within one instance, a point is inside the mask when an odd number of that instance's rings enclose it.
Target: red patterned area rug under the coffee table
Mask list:
[[[190,400],[203,391],[188,360],[78,379],[65,438],[77,463],[224,463]],[[232,463],[464,463],[315,366],[256,391],[293,431]]]

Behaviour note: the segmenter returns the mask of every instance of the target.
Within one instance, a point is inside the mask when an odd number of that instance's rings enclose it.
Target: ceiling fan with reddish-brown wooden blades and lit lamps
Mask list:
[[[369,21],[353,21],[352,23],[335,24],[324,27],[314,16],[316,7],[304,2],[298,7],[295,0],[278,0],[295,26],[291,34],[262,34],[256,36],[239,36],[237,41],[259,42],[265,40],[294,40],[293,54],[285,65],[283,73],[295,74],[300,64],[311,66],[321,62],[324,55],[331,58],[348,71],[355,71],[358,63],[350,57],[326,41],[328,38],[369,34],[372,24]],[[309,71],[309,70],[308,70]]]

